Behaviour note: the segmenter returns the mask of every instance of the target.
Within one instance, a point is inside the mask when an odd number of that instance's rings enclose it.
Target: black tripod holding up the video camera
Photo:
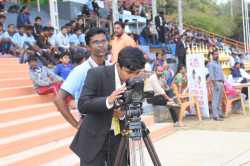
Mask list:
[[[132,156],[132,166],[136,166],[136,152],[135,152],[135,141],[139,142],[139,153],[140,153],[140,163],[141,166],[145,166],[145,159],[143,153],[143,142],[144,141],[146,148],[149,152],[151,160],[154,166],[161,166],[160,160],[156,154],[155,148],[152,144],[152,141],[149,137],[149,130],[146,128],[144,122],[140,121],[141,118],[134,116],[130,118],[130,122],[126,124],[127,130],[121,132],[122,139],[120,146],[117,152],[116,160],[114,166],[121,166],[122,159],[124,157],[125,150],[128,145],[128,140],[130,140],[131,146],[131,156]]]

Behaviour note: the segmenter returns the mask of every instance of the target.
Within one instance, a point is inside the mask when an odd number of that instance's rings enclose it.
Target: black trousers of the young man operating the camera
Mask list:
[[[122,138],[121,134],[114,136],[114,132],[110,132],[107,135],[106,140],[104,141],[101,150],[97,153],[95,158],[88,163],[81,160],[80,166],[102,166],[104,157],[105,157],[107,166],[114,166],[116,154],[118,152],[121,138]],[[125,152],[125,155],[122,159],[122,166],[127,166],[127,165],[128,165],[127,153]]]

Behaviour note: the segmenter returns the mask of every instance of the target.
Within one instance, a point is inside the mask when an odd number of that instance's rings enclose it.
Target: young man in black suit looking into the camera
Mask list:
[[[124,115],[114,109],[114,103],[126,90],[126,80],[139,76],[145,58],[138,48],[125,47],[112,66],[92,68],[88,71],[78,109],[86,114],[70,148],[80,157],[81,166],[99,166],[105,157],[107,166],[113,166],[121,141],[121,134],[114,133],[113,119],[120,131],[124,129]],[[114,118],[113,118],[114,117]],[[127,166],[126,155],[122,166]]]

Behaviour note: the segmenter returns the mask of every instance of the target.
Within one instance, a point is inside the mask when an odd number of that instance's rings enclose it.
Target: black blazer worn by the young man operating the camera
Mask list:
[[[106,99],[115,90],[115,65],[89,69],[78,100],[78,110],[86,114],[70,149],[85,162],[100,151],[111,127],[114,108]],[[125,122],[120,120],[121,131]]]

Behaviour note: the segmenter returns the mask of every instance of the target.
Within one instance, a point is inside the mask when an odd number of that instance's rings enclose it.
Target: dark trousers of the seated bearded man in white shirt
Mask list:
[[[165,92],[166,92],[166,95],[168,95],[168,97],[173,98],[174,93],[173,93],[172,90],[168,90],[168,91],[165,91]],[[154,96],[153,98],[148,99],[147,102],[150,103],[150,104],[153,104],[153,105],[166,106],[168,100],[165,99],[162,95],[159,95],[159,96]],[[178,122],[179,119],[178,119],[176,111],[173,108],[170,108],[169,111],[170,111],[170,114],[172,116],[172,119],[173,119],[174,123]]]

